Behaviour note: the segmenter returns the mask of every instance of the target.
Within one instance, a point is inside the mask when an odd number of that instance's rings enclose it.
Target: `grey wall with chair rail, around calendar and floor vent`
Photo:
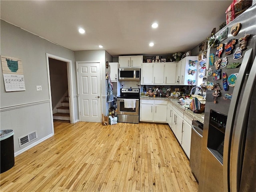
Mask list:
[[[26,91],[6,92],[0,70],[0,128],[14,130],[14,152],[17,155],[53,134],[46,53],[72,60],[73,84],[76,84],[76,70],[72,50],[2,20],[0,30],[0,54],[22,59],[26,86]],[[42,91],[36,91],[36,85],[41,85]],[[73,91],[76,95],[76,89]],[[75,118],[78,118],[77,114]],[[38,139],[20,148],[18,138],[34,130],[37,130]]]

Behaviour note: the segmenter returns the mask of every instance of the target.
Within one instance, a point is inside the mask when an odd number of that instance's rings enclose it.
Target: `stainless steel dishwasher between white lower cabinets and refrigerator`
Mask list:
[[[191,146],[190,146],[190,160],[189,165],[192,173],[199,182],[200,173],[200,159],[201,159],[201,148],[203,138],[203,126],[199,121],[192,121],[192,132],[191,132]]]

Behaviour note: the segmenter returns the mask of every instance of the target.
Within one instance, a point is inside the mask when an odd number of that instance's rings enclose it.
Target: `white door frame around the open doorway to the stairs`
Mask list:
[[[52,114],[52,93],[51,93],[51,82],[50,82],[50,68],[49,68],[49,58],[60,60],[67,63],[67,75],[68,75],[68,94],[69,94],[69,111],[70,111],[70,123],[75,123],[75,115],[74,115],[74,95],[73,95],[73,77],[72,77],[72,60],[68,60],[66,58],[62,58],[56,55],[46,53],[46,61],[47,61],[47,75],[48,75],[48,87],[49,87],[49,98],[50,98],[50,113],[52,118],[52,130],[54,133],[53,126],[53,114]]]

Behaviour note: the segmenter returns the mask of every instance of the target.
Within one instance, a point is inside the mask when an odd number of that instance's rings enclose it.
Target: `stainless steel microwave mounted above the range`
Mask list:
[[[120,81],[140,81],[140,69],[120,68],[118,77]]]

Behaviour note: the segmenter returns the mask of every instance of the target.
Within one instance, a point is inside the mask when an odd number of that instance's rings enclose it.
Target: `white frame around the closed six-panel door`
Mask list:
[[[78,75],[78,64],[80,63],[98,63],[100,66],[100,111],[102,112],[102,82],[101,82],[101,62],[100,61],[76,61],[76,83],[78,92],[78,116],[79,121],[81,121],[81,106],[80,106],[80,92],[79,92],[79,75]]]

